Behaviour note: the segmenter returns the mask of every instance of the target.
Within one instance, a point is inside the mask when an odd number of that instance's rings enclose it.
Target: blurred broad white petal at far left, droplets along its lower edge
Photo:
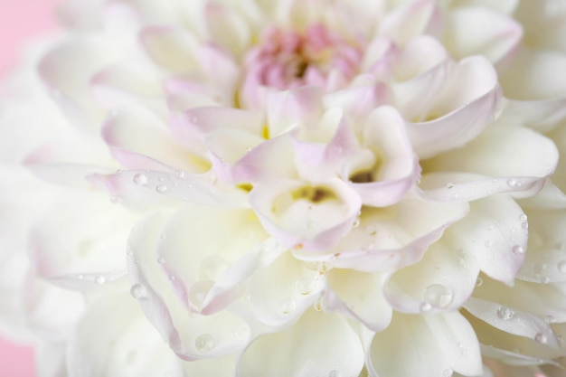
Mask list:
[[[137,216],[110,203],[103,193],[67,190],[52,201],[52,209],[33,227],[30,246],[34,267],[39,276],[54,283],[71,280],[73,288],[89,283],[96,286],[98,277],[99,281],[108,280],[105,274],[118,278],[126,269],[122,250],[136,220]],[[65,236],[61,236],[61,229]]]

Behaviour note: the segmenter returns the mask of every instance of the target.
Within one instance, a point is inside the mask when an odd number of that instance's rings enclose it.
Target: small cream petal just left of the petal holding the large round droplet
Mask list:
[[[349,269],[332,269],[326,278],[328,288],[323,306],[360,321],[373,331],[391,323],[393,311],[383,295],[382,276]]]

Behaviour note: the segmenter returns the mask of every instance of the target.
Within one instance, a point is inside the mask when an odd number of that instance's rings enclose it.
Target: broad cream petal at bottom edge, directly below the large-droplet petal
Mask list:
[[[372,375],[387,377],[482,372],[476,334],[458,312],[429,316],[396,314],[391,325],[373,338],[369,360]]]

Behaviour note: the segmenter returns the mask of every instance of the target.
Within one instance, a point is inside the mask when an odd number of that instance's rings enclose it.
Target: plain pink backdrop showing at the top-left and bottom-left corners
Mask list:
[[[53,8],[60,0],[0,0],[0,80],[17,61],[20,46],[56,26]],[[0,334],[0,376],[33,377],[33,350]]]

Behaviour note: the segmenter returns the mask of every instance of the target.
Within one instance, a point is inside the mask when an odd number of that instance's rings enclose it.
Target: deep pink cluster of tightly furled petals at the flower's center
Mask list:
[[[322,24],[309,26],[305,33],[270,27],[246,56],[245,81],[279,90],[325,86],[332,75],[352,79],[361,60],[361,46]]]

